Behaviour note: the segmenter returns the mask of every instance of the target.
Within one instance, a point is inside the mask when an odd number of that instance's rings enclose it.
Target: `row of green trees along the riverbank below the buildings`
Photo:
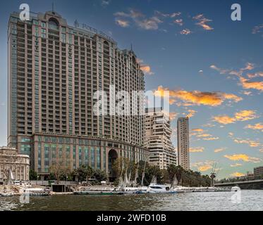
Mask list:
[[[128,158],[118,158],[115,160],[111,166],[111,174],[106,174],[106,172],[100,169],[92,169],[86,165],[82,165],[82,167],[73,171],[59,166],[52,166],[50,167],[49,180],[89,181],[91,184],[99,184],[101,181],[109,180],[109,175],[116,178],[114,181],[116,186],[118,186],[121,177],[123,180],[126,179],[125,176],[127,176],[130,183],[133,181],[133,184],[136,177],[136,184],[139,186],[149,186],[153,177],[156,178],[158,184],[172,184],[176,177],[178,185],[181,186],[207,187],[211,185],[209,176],[202,175],[200,172],[185,170],[183,167],[176,165],[170,165],[167,169],[160,169],[143,161],[135,163]],[[30,171],[30,180],[36,180],[37,177],[37,172]]]

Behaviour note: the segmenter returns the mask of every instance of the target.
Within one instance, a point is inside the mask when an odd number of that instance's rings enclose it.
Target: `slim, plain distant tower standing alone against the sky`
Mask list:
[[[178,118],[177,122],[177,143],[178,143],[178,165],[183,169],[190,169],[189,157],[189,118]]]

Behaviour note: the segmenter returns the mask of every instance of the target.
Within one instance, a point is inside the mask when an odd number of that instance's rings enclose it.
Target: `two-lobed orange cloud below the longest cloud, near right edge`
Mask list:
[[[235,113],[233,117],[230,117],[228,115],[219,115],[213,117],[213,120],[215,122],[218,122],[219,124],[233,124],[236,121],[247,121],[247,120],[254,120],[258,118],[256,115],[256,112],[253,110],[242,110],[238,113]]]

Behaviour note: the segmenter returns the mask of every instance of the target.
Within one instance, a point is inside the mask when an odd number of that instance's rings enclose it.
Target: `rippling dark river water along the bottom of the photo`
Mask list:
[[[263,210],[263,191],[241,191],[240,203],[231,200],[231,192],[176,193],[141,195],[52,195],[30,197],[29,204],[19,196],[0,197],[0,210],[29,211],[229,211]]]

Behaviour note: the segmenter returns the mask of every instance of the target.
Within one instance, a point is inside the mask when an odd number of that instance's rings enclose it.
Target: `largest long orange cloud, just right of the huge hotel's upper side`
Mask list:
[[[164,89],[162,86],[158,87],[158,91],[170,91],[171,103],[175,103],[176,100],[181,100],[185,105],[209,105],[219,106],[225,101],[239,102],[243,100],[234,94],[226,94],[223,92],[202,92],[202,91],[184,91],[184,90],[169,90]]]

